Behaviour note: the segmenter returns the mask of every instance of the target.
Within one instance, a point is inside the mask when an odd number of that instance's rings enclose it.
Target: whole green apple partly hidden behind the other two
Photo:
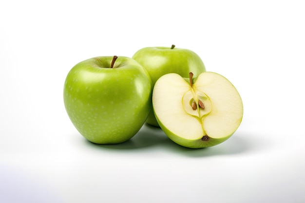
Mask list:
[[[172,47],[146,47],[138,50],[133,59],[139,62],[150,74],[152,84],[164,74],[176,73],[188,77],[192,72],[197,77],[206,71],[201,58],[191,50]],[[153,111],[146,123],[158,126]]]

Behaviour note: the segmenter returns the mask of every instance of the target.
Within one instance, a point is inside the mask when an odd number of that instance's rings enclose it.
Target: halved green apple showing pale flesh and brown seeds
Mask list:
[[[165,134],[187,148],[206,148],[227,140],[243,117],[242,99],[224,76],[204,72],[193,78],[161,76],[152,92],[153,111]]]

